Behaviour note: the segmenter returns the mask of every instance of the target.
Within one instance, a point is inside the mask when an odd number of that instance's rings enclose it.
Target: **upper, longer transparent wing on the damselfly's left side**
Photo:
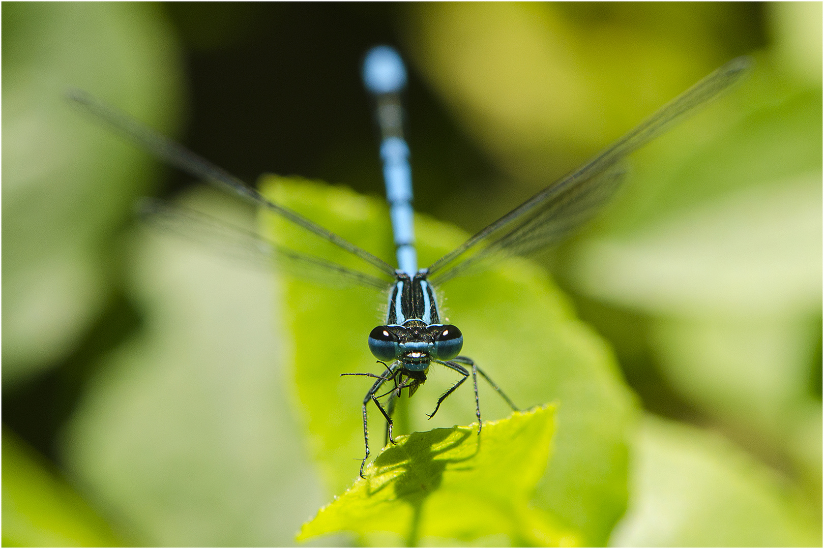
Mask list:
[[[223,190],[229,190],[232,193],[245,198],[256,206],[264,207],[271,212],[282,216],[295,225],[300,226],[313,235],[320,237],[323,240],[328,240],[332,244],[345,249],[350,254],[363,259],[366,263],[377,268],[378,271],[394,277],[395,268],[389,263],[386,263],[381,258],[377,258],[364,249],[359,248],[348,240],[335,235],[330,230],[326,230],[313,221],[309,221],[306,217],[301,216],[297,212],[293,212],[287,207],[279,206],[274,202],[270,202],[263,195],[258,193],[255,188],[229,174],[227,171],[218,168],[211,162],[194,154],[194,152],[183,147],[179,143],[171,141],[166,136],[155,132],[151,128],[147,128],[142,123],[124,114],[119,110],[113,109],[94,96],[82,90],[70,90],[67,93],[69,100],[72,100],[76,105],[81,106],[88,113],[94,115],[97,119],[102,120],[117,132],[129,137],[138,145],[151,152],[152,155],[176,168],[183,170],[194,177],[204,179],[210,184]]]

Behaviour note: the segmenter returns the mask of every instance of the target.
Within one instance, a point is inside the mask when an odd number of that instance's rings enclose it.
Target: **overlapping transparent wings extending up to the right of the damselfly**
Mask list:
[[[750,65],[750,58],[735,58],[699,81],[581,168],[438,259],[429,268],[431,280],[441,284],[499,258],[530,254],[563,240],[615,194],[623,175],[621,159],[732,86]]]

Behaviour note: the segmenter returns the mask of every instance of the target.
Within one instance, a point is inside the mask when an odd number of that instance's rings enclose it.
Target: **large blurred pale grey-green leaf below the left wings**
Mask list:
[[[222,193],[186,202],[253,222]],[[145,325],[87,386],[68,465],[139,544],[293,544],[323,498],[288,409],[270,273],[175,235],[128,244]]]

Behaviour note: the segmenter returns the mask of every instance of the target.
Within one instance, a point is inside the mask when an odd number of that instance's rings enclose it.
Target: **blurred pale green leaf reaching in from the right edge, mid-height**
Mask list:
[[[822,174],[728,193],[574,251],[570,277],[654,314],[813,313],[822,299]]]

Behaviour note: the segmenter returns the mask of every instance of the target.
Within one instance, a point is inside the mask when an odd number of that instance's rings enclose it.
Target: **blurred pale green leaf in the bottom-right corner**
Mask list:
[[[718,435],[648,416],[616,547],[821,545],[786,482]]]

